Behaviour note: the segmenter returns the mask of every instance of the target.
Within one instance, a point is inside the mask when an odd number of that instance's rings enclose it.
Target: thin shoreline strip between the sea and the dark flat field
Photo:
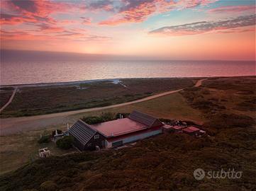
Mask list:
[[[42,82],[42,83],[15,83],[1,85],[0,88],[13,87],[13,88],[25,88],[25,87],[48,87],[48,86],[69,86],[77,85],[79,83],[94,83],[101,81],[111,81],[111,83],[118,84],[122,79],[211,79],[211,78],[233,78],[233,77],[256,77],[255,76],[190,76],[190,77],[154,77],[154,78],[116,78],[116,79],[91,79],[82,81],[60,81],[60,82]]]

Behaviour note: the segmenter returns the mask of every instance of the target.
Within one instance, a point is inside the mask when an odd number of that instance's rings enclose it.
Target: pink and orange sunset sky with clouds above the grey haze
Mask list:
[[[255,60],[255,1],[1,1],[1,49]]]

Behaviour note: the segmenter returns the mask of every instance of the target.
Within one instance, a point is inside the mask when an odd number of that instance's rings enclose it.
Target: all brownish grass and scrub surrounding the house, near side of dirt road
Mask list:
[[[35,158],[39,134],[45,129],[1,137],[1,163],[9,170],[26,165],[1,175],[0,190],[255,190],[255,85],[255,76],[209,78],[202,86],[179,93],[70,116],[77,119],[136,109],[201,123],[210,137],[162,134],[125,149],[64,156],[50,143],[44,146],[52,148],[55,156],[35,161],[30,158]],[[65,125],[56,127],[65,129]],[[195,180],[196,168],[234,168],[243,175]]]

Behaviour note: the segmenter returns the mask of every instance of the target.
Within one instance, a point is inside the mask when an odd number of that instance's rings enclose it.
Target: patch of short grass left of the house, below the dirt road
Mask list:
[[[6,173],[16,170],[19,166],[35,161],[38,158],[38,149],[48,147],[52,155],[59,156],[62,154],[75,151],[70,149],[63,151],[58,149],[55,144],[50,141],[48,144],[38,144],[40,134],[51,133],[54,129],[65,129],[63,126],[51,127],[38,131],[23,132],[9,136],[0,137],[0,173]]]

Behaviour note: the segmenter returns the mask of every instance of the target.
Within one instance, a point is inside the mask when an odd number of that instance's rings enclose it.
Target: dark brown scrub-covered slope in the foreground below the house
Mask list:
[[[214,121],[212,121],[213,123]],[[232,124],[231,124],[232,125]],[[196,139],[162,134],[133,147],[40,159],[0,178],[1,190],[254,190],[255,129],[226,123]],[[196,168],[243,171],[240,179],[195,180]]]

